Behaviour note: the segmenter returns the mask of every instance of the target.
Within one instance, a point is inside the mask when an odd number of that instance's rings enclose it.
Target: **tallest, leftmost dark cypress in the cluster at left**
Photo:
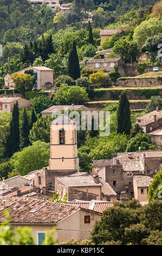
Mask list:
[[[19,110],[18,102],[12,109],[12,119],[10,122],[10,132],[7,138],[7,156],[11,157],[15,152],[20,150],[20,130],[19,130]]]

